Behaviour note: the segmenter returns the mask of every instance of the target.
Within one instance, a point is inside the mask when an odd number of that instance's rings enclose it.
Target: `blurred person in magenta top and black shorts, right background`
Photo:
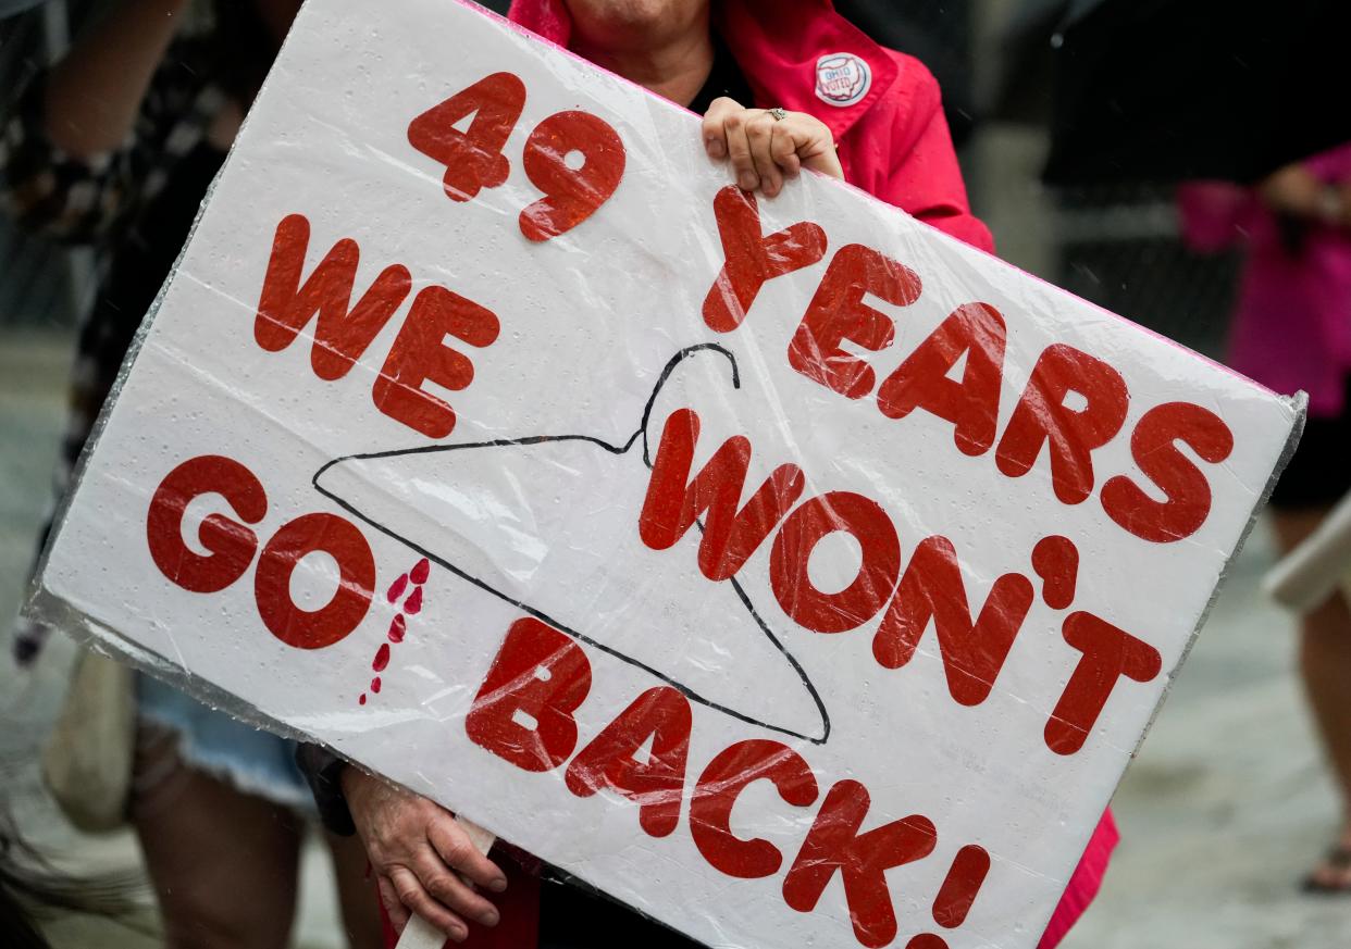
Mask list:
[[[1274,391],[1309,394],[1300,447],[1271,493],[1289,552],[1351,491],[1351,143],[1251,189],[1183,185],[1178,207],[1194,248],[1247,244],[1228,363]],[[1304,616],[1300,672],[1343,810],[1304,888],[1351,892],[1351,609],[1340,591]]]

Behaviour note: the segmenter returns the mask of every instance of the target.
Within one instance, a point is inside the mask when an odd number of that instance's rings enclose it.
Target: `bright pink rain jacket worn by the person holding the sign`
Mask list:
[[[515,0],[508,18],[558,46],[569,46],[571,20],[562,0]],[[744,105],[781,105],[815,115],[834,132],[851,185],[993,252],[989,229],[971,215],[966,201],[938,82],[919,59],[878,46],[836,13],[831,0],[713,0],[713,20],[755,93],[755,103]],[[850,54],[867,66],[870,81],[857,101],[836,104],[816,94],[817,61],[835,54]],[[855,78],[859,74],[855,67]],[[1058,944],[1092,902],[1116,841],[1108,811],[1039,949]],[[524,895],[524,887],[515,880],[505,895],[512,895],[513,888],[517,896]],[[503,906],[503,927],[508,926],[508,915],[528,913],[523,899],[513,902],[517,904],[511,909]],[[476,946],[511,945],[507,933],[470,929]]]

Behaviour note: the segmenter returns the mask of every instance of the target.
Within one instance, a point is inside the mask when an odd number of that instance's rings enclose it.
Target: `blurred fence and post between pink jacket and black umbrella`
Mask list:
[[[904,0],[900,0],[904,1]],[[963,155],[977,213],[1024,254],[1015,262],[1071,293],[1219,356],[1239,256],[1198,256],[1178,232],[1171,185],[1040,184],[1050,143],[1052,45],[1066,0],[970,0],[977,138]],[[916,4],[924,7],[927,4]],[[947,34],[939,34],[947,35]],[[962,42],[952,40],[948,42]],[[1009,148],[1006,146],[1017,147]]]

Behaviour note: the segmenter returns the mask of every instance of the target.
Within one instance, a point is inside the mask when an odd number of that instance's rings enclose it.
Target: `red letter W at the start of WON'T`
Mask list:
[[[724,441],[693,481],[689,471],[698,440],[698,416],[673,412],[662,431],[653,478],[638,520],[638,533],[654,551],[676,544],[696,518],[708,512],[698,545],[698,568],[711,580],[725,580],[759,548],[802,493],[805,478],[796,464],[781,464],[740,510],[751,443],[743,436]]]

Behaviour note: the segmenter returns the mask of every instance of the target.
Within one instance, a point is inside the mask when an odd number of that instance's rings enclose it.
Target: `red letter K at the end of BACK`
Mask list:
[[[858,782],[842,780],[830,790],[784,879],[784,900],[798,913],[811,913],[838,872],[854,936],[865,946],[885,946],[896,938],[885,872],[927,857],[938,833],[932,821],[912,814],[861,834],[869,805],[867,788]]]

